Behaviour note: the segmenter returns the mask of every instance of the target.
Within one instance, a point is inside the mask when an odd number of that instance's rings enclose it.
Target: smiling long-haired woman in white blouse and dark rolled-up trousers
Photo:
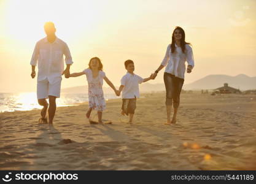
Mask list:
[[[187,61],[187,73],[192,72],[194,67],[194,59],[192,47],[190,43],[185,42],[185,32],[177,26],[173,31],[172,42],[168,45],[165,58],[158,69],[153,74],[157,77],[157,73],[165,67],[164,81],[166,88],[166,112],[167,123],[176,123],[176,115],[179,107],[180,91],[184,83],[185,61]],[[173,105],[174,113],[171,120],[171,106]]]

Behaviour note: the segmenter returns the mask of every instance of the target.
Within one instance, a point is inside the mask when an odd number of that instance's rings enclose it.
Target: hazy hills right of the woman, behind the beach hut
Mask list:
[[[215,89],[228,83],[228,86],[239,90],[256,89],[256,77],[249,77],[244,74],[236,75],[207,75],[203,79],[184,85],[184,90]]]

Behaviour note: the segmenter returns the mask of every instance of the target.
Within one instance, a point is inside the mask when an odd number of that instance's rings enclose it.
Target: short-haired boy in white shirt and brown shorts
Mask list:
[[[130,59],[125,61],[126,75],[121,79],[121,85],[117,93],[120,95],[122,92],[122,115],[129,115],[129,123],[133,122],[134,110],[136,109],[136,99],[139,98],[139,83],[147,82],[153,79],[153,75],[142,79],[134,74],[134,63]]]

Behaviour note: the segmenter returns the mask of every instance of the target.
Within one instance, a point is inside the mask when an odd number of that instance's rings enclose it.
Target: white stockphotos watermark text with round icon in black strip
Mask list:
[[[78,174],[66,174],[65,172],[61,173],[15,173],[8,172],[8,174],[2,177],[2,181],[10,182],[10,181],[22,181],[22,180],[34,180],[34,181],[42,181],[47,182],[48,180],[78,180]]]

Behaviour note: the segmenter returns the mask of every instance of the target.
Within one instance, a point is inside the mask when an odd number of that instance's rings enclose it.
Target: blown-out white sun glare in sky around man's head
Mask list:
[[[58,36],[65,37],[65,40],[74,39],[80,34],[84,34],[85,29],[93,21],[96,21],[97,17],[93,13],[91,6],[95,6],[95,2],[61,0],[7,1],[6,35],[10,39],[35,42],[45,36],[44,23],[53,21]]]

